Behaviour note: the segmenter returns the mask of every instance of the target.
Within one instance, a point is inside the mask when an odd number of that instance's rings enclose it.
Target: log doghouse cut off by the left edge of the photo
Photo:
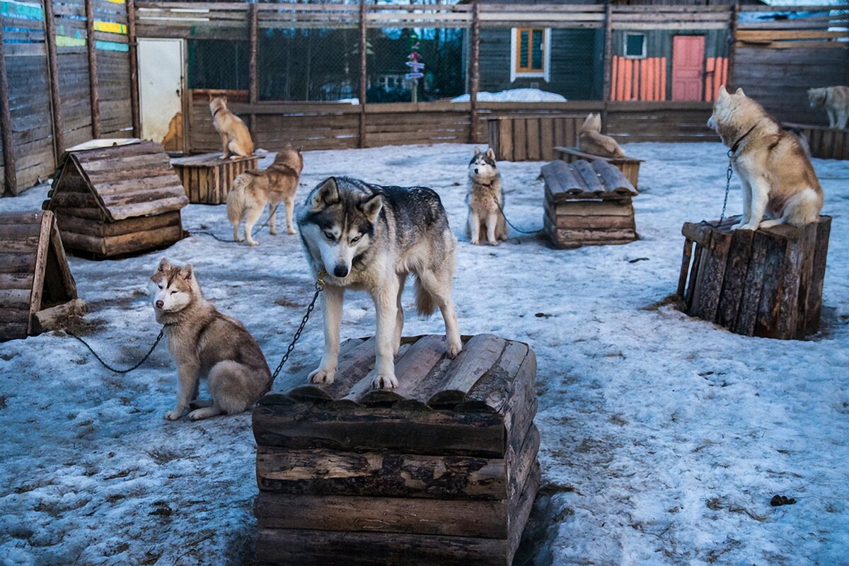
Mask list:
[[[0,214],[0,341],[85,314],[52,212]]]

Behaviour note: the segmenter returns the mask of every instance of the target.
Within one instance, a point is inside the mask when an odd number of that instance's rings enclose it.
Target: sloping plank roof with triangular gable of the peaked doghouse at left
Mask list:
[[[71,149],[45,210],[88,210],[104,221],[180,210],[188,197],[160,143]]]

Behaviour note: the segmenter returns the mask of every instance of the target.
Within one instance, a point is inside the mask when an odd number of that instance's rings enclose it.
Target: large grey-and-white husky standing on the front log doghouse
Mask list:
[[[368,291],[377,311],[374,387],[398,385],[393,357],[401,345],[401,294],[411,272],[419,314],[430,315],[439,307],[448,356],[458,355],[462,345],[451,299],[457,240],[433,190],[329,177],[298,211],[298,228],[313,275],[325,281],[324,355],[310,373],[312,383],[333,383],[342,300],[346,289],[355,289]]]

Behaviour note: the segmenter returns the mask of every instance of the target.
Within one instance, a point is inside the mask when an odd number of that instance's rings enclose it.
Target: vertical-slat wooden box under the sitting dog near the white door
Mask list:
[[[221,159],[221,152],[192,155],[171,160],[174,170],[183,182],[188,202],[195,205],[222,205],[233,179],[239,173],[256,169],[259,156],[249,155],[236,159]]]

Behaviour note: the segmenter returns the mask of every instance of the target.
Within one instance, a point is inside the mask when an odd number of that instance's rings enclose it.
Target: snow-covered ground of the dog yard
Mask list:
[[[814,161],[834,216],[823,329],[777,341],[663,304],[676,288],[683,221],[722,206],[725,149],[625,149],[646,160],[634,201],[642,239],[625,246],[558,251],[527,236],[470,245],[470,145],[309,152],[301,199],[331,174],[441,194],[460,240],[461,331],[524,340],[538,356],[545,485],[541,538],[523,564],[849,563],[849,162]],[[502,164],[518,227],[542,224],[540,165]],[[37,209],[45,192],[2,199],[0,210]],[[739,209],[735,178],[728,210]],[[190,205],[183,224],[230,234],[223,206]],[[70,258],[90,308],[87,339],[116,364],[143,355],[158,330],[146,285],[167,256],[193,263],[205,293],[276,365],[312,280],[296,236],[258,239],[249,248],[199,235],[124,261]],[[289,370],[316,363],[320,328],[315,317]],[[441,320],[410,317],[405,330],[440,333]],[[373,332],[370,300],[350,294],[343,338]],[[163,420],[176,392],[164,345],[116,376],[73,339],[47,334],[0,345],[0,367],[0,562],[250,563],[250,415]],[[775,494],[797,502],[770,507]]]

